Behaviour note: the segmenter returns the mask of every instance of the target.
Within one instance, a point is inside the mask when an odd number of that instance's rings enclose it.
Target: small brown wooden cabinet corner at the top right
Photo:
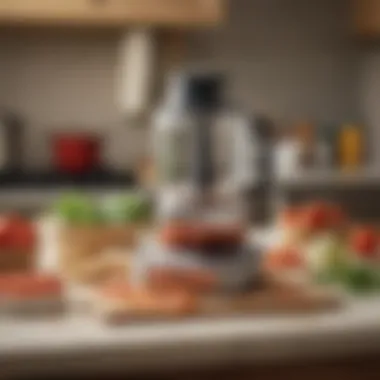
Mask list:
[[[352,12],[356,34],[380,37],[380,0],[353,0]]]

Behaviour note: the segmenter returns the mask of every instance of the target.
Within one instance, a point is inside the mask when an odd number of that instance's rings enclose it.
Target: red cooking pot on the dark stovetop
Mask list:
[[[100,140],[96,136],[62,134],[53,139],[53,157],[61,172],[84,173],[100,164]]]

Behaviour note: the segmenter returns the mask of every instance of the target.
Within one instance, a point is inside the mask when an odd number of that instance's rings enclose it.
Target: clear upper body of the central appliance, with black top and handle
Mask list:
[[[221,74],[173,78],[165,106],[155,118],[160,215],[199,217],[202,211],[215,219],[222,218],[225,209],[224,217],[234,218],[241,211],[231,212],[237,210],[239,197],[257,177],[270,177],[270,128],[264,118],[225,107]],[[217,213],[207,212],[206,198],[209,206],[217,204],[211,206]]]

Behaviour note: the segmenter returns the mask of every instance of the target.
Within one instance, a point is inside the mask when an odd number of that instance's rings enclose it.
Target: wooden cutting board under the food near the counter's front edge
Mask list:
[[[229,317],[246,315],[280,315],[316,313],[338,308],[342,297],[323,287],[305,287],[266,278],[260,285],[241,294],[204,296],[198,299],[196,309],[171,312],[168,309],[134,309],[125,300],[102,299],[97,305],[99,315],[107,322],[125,323],[140,320],[181,320],[188,318]],[[160,300],[158,299],[158,302]]]

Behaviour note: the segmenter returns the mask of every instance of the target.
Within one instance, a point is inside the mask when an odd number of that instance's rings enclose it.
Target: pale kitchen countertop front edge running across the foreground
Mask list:
[[[274,231],[252,238],[265,246]],[[347,299],[336,310],[131,322],[110,327],[83,313],[58,319],[0,317],[2,373],[62,374],[64,370],[146,371],[178,366],[300,361],[380,352],[380,296]]]

